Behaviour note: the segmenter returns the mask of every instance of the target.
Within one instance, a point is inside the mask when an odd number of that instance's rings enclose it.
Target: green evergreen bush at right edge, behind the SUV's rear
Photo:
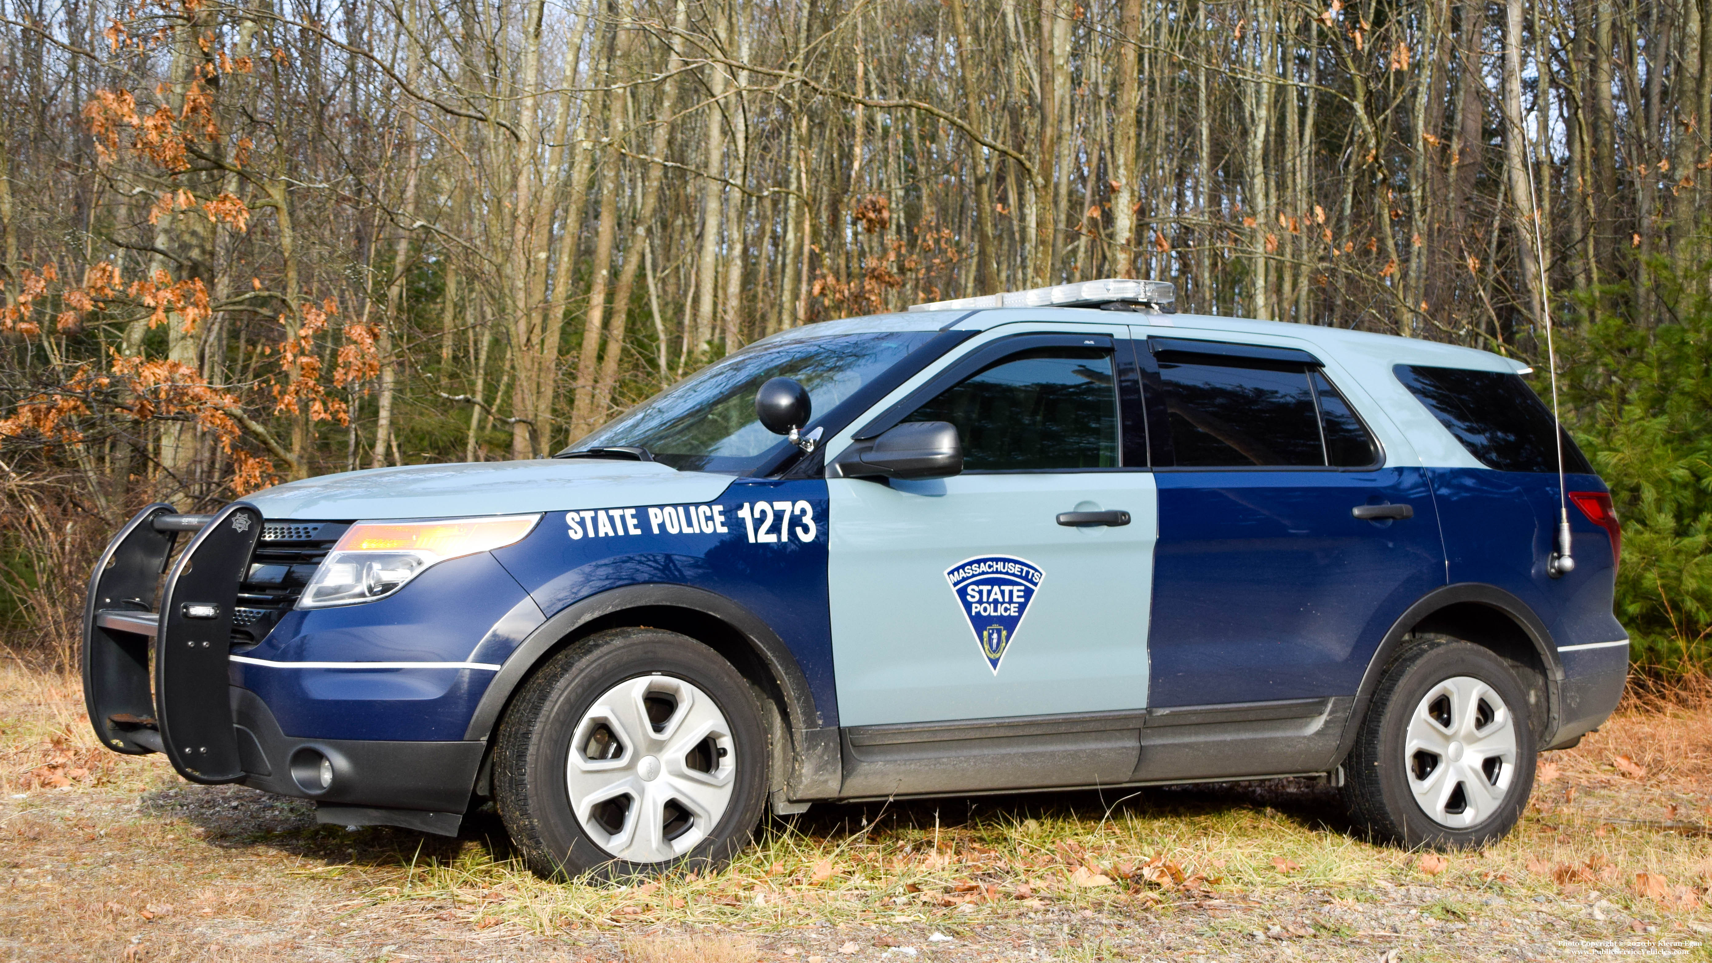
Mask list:
[[[1635,660],[1666,675],[1712,663],[1712,262],[1647,266],[1656,326],[1633,293],[1580,300],[1558,370],[1575,440],[1623,521],[1616,613]],[[1544,386],[1541,386],[1544,387]]]

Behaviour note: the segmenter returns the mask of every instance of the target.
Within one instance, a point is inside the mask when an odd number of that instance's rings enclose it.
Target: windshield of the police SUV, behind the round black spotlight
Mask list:
[[[750,473],[788,444],[755,420],[755,392],[772,377],[808,389],[815,422],[933,338],[931,331],[835,334],[738,351],[656,394],[567,451],[645,447],[690,471]],[[815,423],[811,422],[811,423]]]

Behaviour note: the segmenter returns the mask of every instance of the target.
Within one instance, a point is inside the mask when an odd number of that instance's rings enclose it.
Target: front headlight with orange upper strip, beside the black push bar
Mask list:
[[[389,596],[435,562],[503,548],[541,516],[445,521],[360,521],[332,547],[303,589],[298,608],[330,608]]]

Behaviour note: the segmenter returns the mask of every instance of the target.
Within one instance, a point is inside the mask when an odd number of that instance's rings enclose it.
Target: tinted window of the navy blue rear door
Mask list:
[[[1373,435],[1315,365],[1200,356],[1159,362],[1178,468],[1361,468]]]

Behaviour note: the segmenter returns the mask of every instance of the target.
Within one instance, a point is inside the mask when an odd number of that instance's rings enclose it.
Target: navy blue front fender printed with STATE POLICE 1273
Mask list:
[[[757,507],[762,502],[765,512]],[[616,519],[613,512],[630,514]],[[837,725],[823,480],[740,478],[704,505],[606,509],[606,529],[599,528],[601,512],[570,514],[579,516],[575,529],[567,512],[553,512],[517,545],[493,552],[541,612],[551,617],[591,595],[632,584],[683,584],[722,595],[784,641],[815,697],[817,725]]]

